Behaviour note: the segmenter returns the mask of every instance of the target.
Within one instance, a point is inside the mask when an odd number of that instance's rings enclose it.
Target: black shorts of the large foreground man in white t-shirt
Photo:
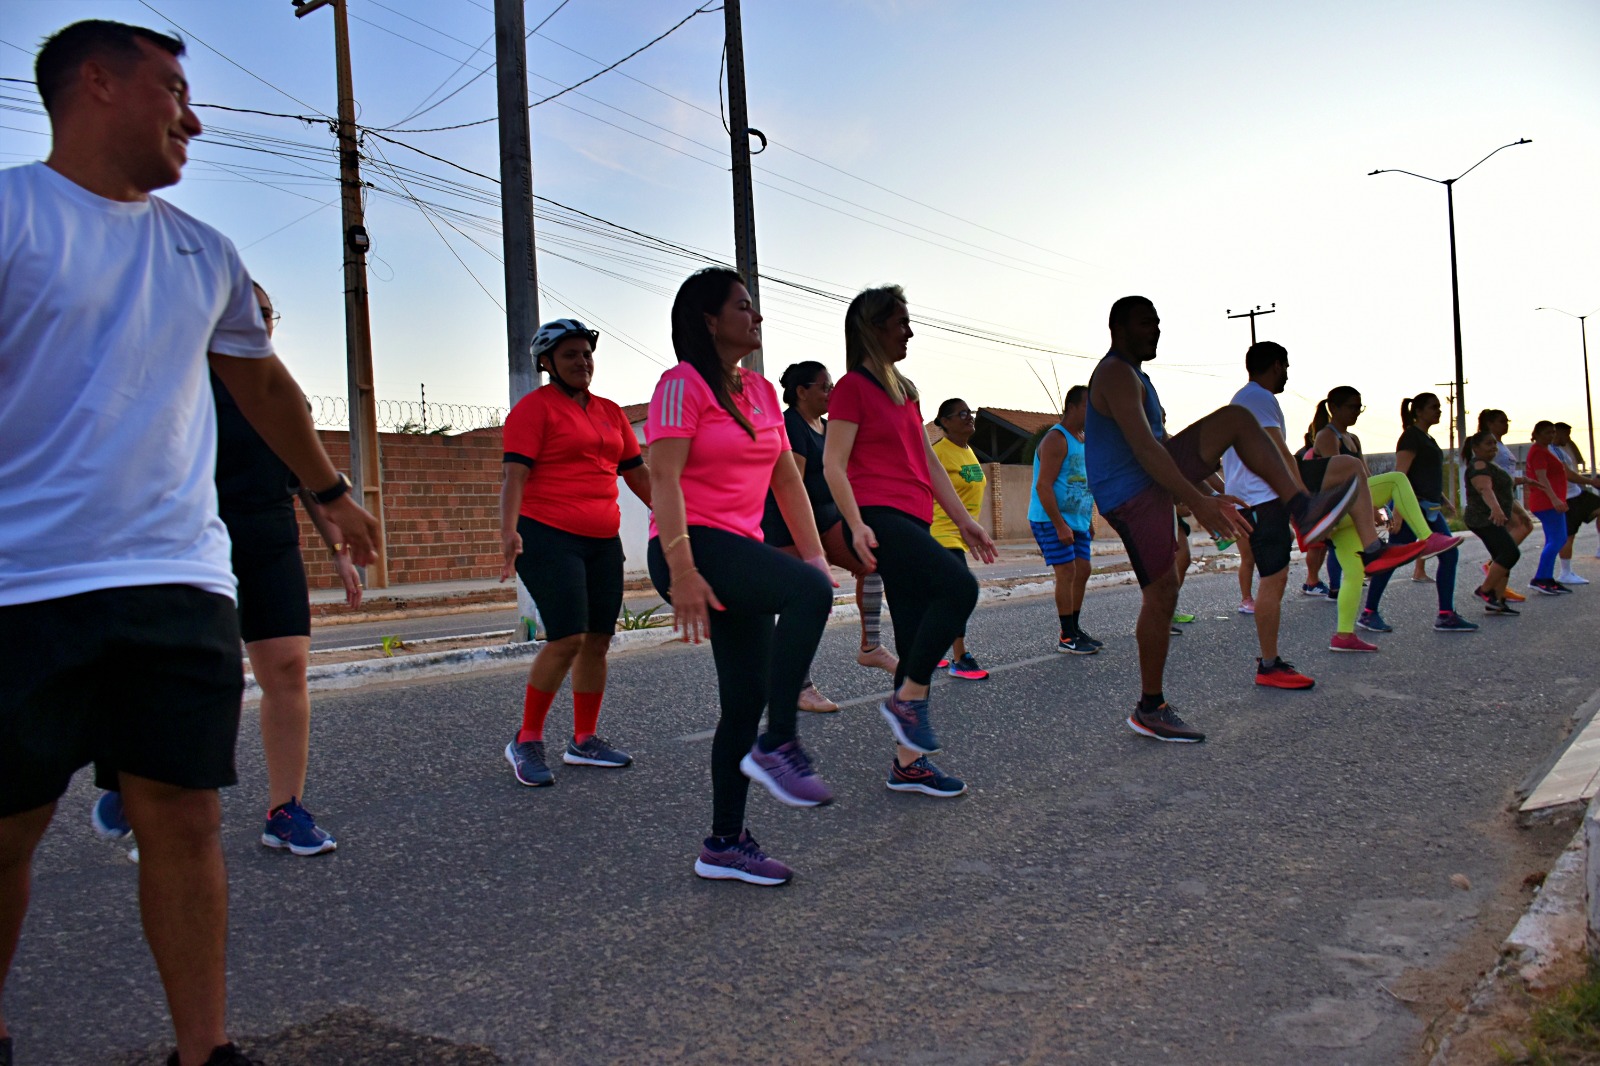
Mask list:
[[[186,584],[0,607],[0,818],[88,763],[187,789],[234,784],[238,615]]]

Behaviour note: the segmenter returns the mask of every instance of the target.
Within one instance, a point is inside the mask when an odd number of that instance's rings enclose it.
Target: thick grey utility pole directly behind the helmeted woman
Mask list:
[[[528,131],[528,30],[523,0],[494,0],[494,82],[499,88],[501,240],[506,253],[506,352],[510,405],[539,386],[533,335],[539,330],[539,277],[533,254],[533,138]],[[517,578],[517,635],[533,640],[539,610]]]

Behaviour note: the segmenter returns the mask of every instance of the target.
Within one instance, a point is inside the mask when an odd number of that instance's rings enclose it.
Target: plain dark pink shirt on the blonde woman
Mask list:
[[[933,522],[928,437],[915,400],[896,405],[877,378],[851,370],[834,386],[827,419],[858,426],[845,466],[858,507],[894,507],[918,522]]]

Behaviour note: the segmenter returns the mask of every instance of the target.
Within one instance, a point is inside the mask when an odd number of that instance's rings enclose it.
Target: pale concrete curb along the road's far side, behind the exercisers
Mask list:
[[[1206,560],[1208,565],[1205,565],[1203,570],[1234,570],[1238,567],[1237,555],[1208,555]],[[1195,567],[1200,567],[1200,563],[1197,562]],[[1192,567],[1190,573],[1198,573],[1198,570]],[[1117,573],[1091,575],[1086,587],[1090,591],[1109,589],[1133,584],[1134,581],[1136,578],[1131,570],[1122,570]],[[1013,586],[986,584],[978,592],[978,605],[982,607],[984,603],[1051,595],[1053,592],[1054,584],[1051,581],[1026,581]],[[829,624],[842,626],[845,623],[856,621],[856,618],[859,618],[856,605],[846,602],[834,607]],[[672,643],[674,640],[675,637],[672,637],[670,629],[630,629],[616,634],[616,639],[611,642],[611,653],[618,655],[646,647],[662,647]],[[421,680],[424,677],[470,674],[474,671],[499,669],[514,663],[523,663],[538,655],[542,647],[542,642],[518,642],[490,645],[483,648],[422,651],[419,655],[403,655],[398,658],[326,663],[323,666],[310,667],[306,680],[310,691],[338,691],[341,688],[358,688],[374,682]],[[246,677],[245,699],[259,698],[261,687],[256,683],[256,679]]]

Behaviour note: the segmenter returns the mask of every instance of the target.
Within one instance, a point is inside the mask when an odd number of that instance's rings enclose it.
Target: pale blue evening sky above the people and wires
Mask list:
[[[358,122],[498,178],[493,0],[347,0]],[[694,0],[530,0],[530,93],[594,75]],[[336,110],[330,10],[290,0],[3,0],[0,77],[80,18],[189,42],[194,99]],[[848,296],[906,288],[904,363],[930,403],[1050,410],[1106,351],[1128,293],[1162,314],[1152,378],[1174,426],[1245,383],[1248,320],[1290,351],[1293,431],[1358,387],[1373,451],[1405,395],[1454,373],[1445,189],[1454,178],[1469,421],[1541,418],[1587,439],[1573,314],[1600,309],[1600,5],[1474,0],[1078,3],[744,0],[760,269]],[[733,259],[723,14],[531,110],[534,192],[605,222]],[[30,85],[0,82],[0,166],[43,158]],[[464,88],[462,88],[464,86]],[[445,98],[443,102],[427,109]],[[160,195],[218,226],[283,314],[307,394],[346,391],[341,224],[326,123],[197,109],[208,134]],[[414,115],[414,117],[413,117]],[[365,141],[381,400],[504,407],[498,186]],[[395,170],[408,168],[408,170]],[[418,173],[421,171],[421,173]],[[440,179],[469,187],[442,186]],[[414,198],[408,198],[414,197]],[[421,200],[419,206],[416,200]],[[595,392],[643,402],[672,365],[669,309],[691,258],[627,243],[541,203],[542,319],[600,330]],[[544,211],[549,210],[549,214]],[[762,287],[766,373],[843,373],[843,304]],[[944,328],[939,328],[944,327]],[[978,335],[978,336],[973,336]],[[1600,376],[1600,335],[1595,338]],[[1446,442],[1445,426],[1435,434]]]

